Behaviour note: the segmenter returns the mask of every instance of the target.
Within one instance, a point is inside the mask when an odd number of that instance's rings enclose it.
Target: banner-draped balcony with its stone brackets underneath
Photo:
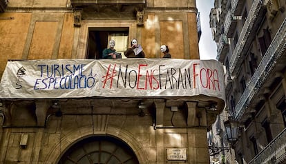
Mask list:
[[[27,73],[30,70],[32,74]],[[216,114],[220,114],[225,107],[224,82],[222,64],[215,60],[138,58],[8,61],[0,83],[0,114],[3,111],[6,125],[45,127],[50,108],[61,116],[68,113],[70,107],[79,107],[80,111],[84,111],[92,105],[97,109],[129,108],[136,109],[133,112],[149,112],[158,104],[160,110],[157,110],[157,116],[164,116],[162,112],[159,113],[164,110],[164,106],[171,110],[184,108],[189,118],[185,122],[188,126],[194,125],[193,117],[199,110],[206,109],[209,115],[204,119],[204,125],[209,127],[216,121]],[[197,112],[194,112],[195,108]],[[35,120],[28,124],[13,120],[17,109],[26,111],[29,116],[37,116],[37,120],[34,117]],[[59,109],[66,112],[57,111]],[[28,114],[30,112],[32,114]],[[142,112],[139,114],[144,115]],[[156,125],[163,125],[163,119],[154,120],[157,121]]]

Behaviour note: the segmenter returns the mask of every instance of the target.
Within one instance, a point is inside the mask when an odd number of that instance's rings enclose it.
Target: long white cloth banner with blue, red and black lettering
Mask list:
[[[47,59],[8,61],[1,99],[206,95],[225,101],[215,60]]]

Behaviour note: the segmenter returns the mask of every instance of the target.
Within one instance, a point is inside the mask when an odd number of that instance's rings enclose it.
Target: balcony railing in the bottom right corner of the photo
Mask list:
[[[275,157],[276,163],[284,160],[286,154],[286,128],[269,143],[265,149],[261,150],[250,162],[252,163],[269,163]],[[284,157],[284,158],[283,158]]]

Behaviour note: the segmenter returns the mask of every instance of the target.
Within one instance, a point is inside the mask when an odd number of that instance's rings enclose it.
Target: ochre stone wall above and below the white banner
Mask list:
[[[10,0],[0,19],[0,76],[8,60],[87,59],[90,29],[128,29],[128,45],[136,38],[146,58],[166,44],[173,58],[199,59],[194,0]],[[209,163],[207,130],[223,103],[195,99],[2,99],[0,163],[61,163],[93,136],[122,141],[142,164]],[[168,160],[169,148],[187,149],[187,159]]]

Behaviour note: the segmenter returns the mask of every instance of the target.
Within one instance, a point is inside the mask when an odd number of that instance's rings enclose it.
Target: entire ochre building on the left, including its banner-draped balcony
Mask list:
[[[200,36],[196,1],[0,0],[0,4],[0,163],[209,163],[207,130],[225,105],[225,78],[219,75],[220,66],[207,68],[218,62],[195,60]],[[142,45],[144,59],[102,59],[111,39],[126,58],[124,50],[133,38]],[[173,59],[160,59],[163,44]],[[188,69],[204,63],[206,67],[192,75],[186,70],[180,74],[180,68],[193,61],[197,63]],[[127,67],[141,62],[142,69],[127,74]],[[144,78],[140,73],[146,65],[158,63],[174,66],[164,85],[180,90],[162,88],[166,90],[158,94],[139,85],[146,78],[146,85],[156,82],[152,86],[159,88],[154,70],[146,71]],[[120,88],[111,85],[115,71],[109,70],[111,64],[125,64],[126,72],[120,67],[117,78],[127,92],[111,89]],[[94,65],[99,66],[93,72]],[[138,76],[133,83],[123,74]],[[34,75],[46,79],[36,79],[32,89],[26,89]],[[102,83],[95,76],[106,77],[106,90],[86,90]],[[61,85],[63,79],[69,84]],[[90,79],[92,85],[82,84]],[[207,91],[191,95],[184,88],[187,83],[189,90],[202,85]]]

